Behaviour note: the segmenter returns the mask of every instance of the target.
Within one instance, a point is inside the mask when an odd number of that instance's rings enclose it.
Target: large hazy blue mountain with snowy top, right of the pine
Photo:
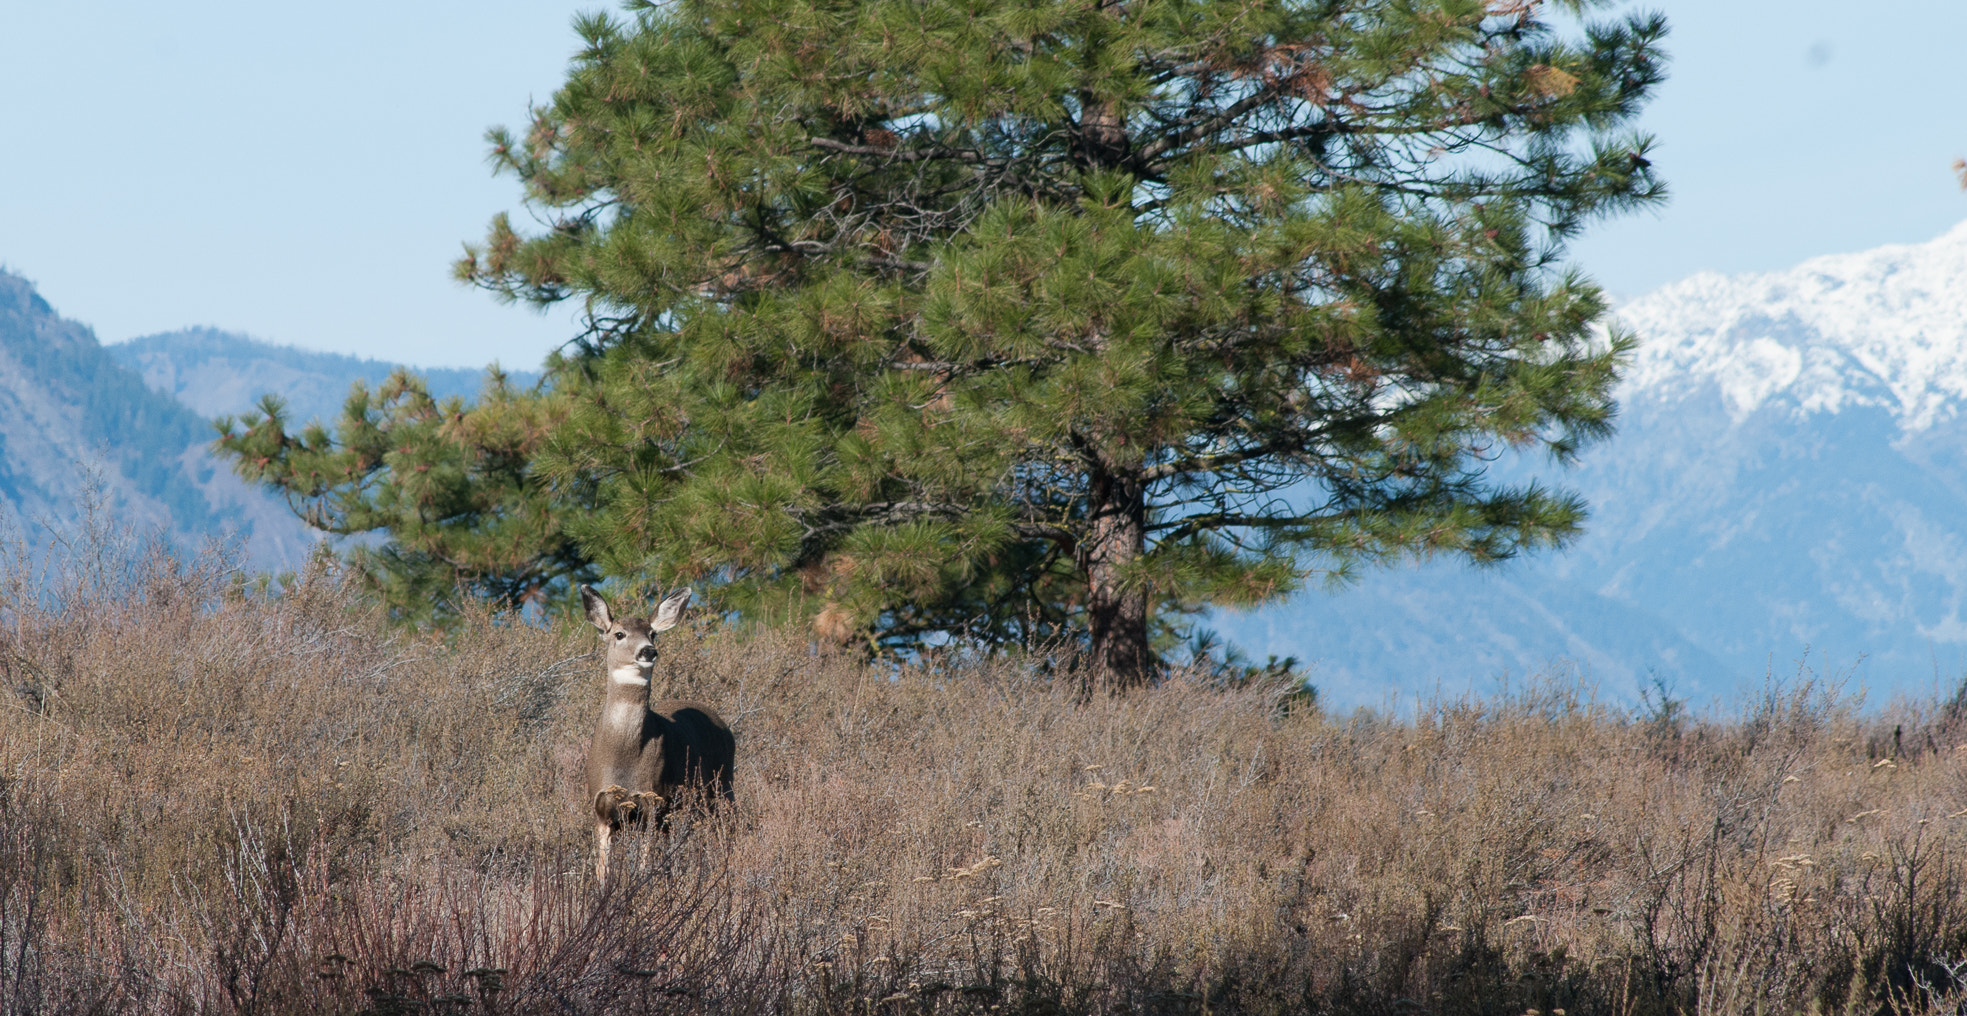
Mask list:
[[[1225,613],[1341,704],[1550,666],[1629,698],[1796,674],[1877,694],[1967,672],[1967,224],[1914,246],[1703,273],[1619,309],[1617,438],[1540,472],[1593,505],[1572,550],[1428,564]]]

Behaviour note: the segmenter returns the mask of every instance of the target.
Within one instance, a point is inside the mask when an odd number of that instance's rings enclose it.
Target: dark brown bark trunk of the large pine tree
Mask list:
[[[1147,645],[1147,590],[1123,580],[1147,548],[1147,485],[1139,472],[1096,470],[1092,519],[1080,542],[1086,570],[1086,680],[1107,688],[1147,684],[1153,654]]]

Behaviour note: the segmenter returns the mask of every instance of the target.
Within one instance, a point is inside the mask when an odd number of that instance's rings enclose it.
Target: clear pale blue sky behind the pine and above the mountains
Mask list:
[[[1591,230],[1615,295],[1967,218],[1967,2],[1674,0],[1644,118],[1674,200]],[[482,134],[602,4],[0,0],[0,265],[106,342],[214,324],[419,366],[531,367],[570,312],[448,277],[511,208]]]

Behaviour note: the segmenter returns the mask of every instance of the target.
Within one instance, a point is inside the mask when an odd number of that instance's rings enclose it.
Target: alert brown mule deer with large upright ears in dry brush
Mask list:
[[[594,876],[602,882],[608,880],[608,847],[624,825],[641,825],[653,835],[679,790],[698,796],[706,808],[732,796],[738,739],[730,723],[696,702],[649,702],[655,635],[677,627],[688,601],[690,592],[683,590],[657,605],[655,617],[614,617],[602,593],[580,588],[580,605],[600,629],[608,658],[608,700],[588,745],[588,802],[600,847]]]

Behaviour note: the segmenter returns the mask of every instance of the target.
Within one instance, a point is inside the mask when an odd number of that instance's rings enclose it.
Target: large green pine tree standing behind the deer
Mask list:
[[[386,586],[694,580],[875,649],[1070,635],[1125,686],[1210,605],[1580,531],[1487,466],[1609,432],[1631,344],[1566,240],[1662,197],[1627,130],[1658,16],[677,0],[576,31],[492,134],[547,226],[458,263],[580,301],[543,391],[399,462],[356,405],[220,438],[387,531]]]

